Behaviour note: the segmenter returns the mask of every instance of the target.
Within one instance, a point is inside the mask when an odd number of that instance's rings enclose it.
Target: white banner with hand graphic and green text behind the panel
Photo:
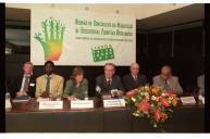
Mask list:
[[[88,11],[34,9],[30,61],[44,65],[129,65],[136,62],[136,18]]]

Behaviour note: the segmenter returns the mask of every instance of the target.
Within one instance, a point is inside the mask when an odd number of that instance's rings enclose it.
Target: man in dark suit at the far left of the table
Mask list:
[[[11,80],[8,86],[8,90],[11,92],[11,97],[29,96],[35,97],[36,78],[33,75],[33,63],[26,62],[23,66],[24,74]]]

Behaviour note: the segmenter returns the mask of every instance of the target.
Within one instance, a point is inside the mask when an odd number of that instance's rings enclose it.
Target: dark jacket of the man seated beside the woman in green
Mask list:
[[[112,89],[119,89],[124,92],[124,87],[121,81],[121,78],[118,75],[114,75],[110,85],[110,88],[108,88],[107,79],[104,75],[100,75],[96,78],[96,86],[99,86],[101,88],[101,93],[111,93]]]

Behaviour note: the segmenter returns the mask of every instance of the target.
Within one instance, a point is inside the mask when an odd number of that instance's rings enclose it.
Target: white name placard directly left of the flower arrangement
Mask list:
[[[124,99],[103,100],[103,108],[124,108]]]

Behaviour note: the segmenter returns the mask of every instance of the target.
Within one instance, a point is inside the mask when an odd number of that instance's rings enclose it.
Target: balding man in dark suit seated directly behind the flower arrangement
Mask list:
[[[123,84],[126,91],[133,90],[147,84],[145,75],[139,74],[139,64],[133,63],[129,67],[131,73],[123,77]]]

